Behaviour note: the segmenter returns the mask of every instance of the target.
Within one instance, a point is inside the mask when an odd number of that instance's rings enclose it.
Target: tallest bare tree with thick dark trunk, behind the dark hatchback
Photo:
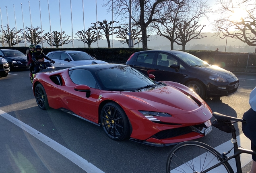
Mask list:
[[[140,26],[142,32],[142,47],[147,50],[147,28],[152,22],[165,22],[171,11],[172,3],[180,3],[180,0],[132,0],[132,21]],[[123,20],[128,18],[130,12],[129,0],[107,0],[103,6],[108,6],[108,12],[113,10],[116,16]]]

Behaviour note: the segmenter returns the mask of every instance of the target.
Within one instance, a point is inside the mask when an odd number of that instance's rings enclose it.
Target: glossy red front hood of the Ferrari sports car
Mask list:
[[[171,86],[152,87],[151,89],[123,94],[134,100],[142,101],[159,111],[161,110],[161,112],[163,110],[169,112],[170,107],[172,107],[177,110],[176,113],[191,113],[204,105],[189,93]]]

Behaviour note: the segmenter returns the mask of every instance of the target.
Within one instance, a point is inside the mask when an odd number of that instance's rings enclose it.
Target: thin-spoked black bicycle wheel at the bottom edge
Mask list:
[[[213,147],[197,141],[182,142],[171,150],[167,163],[167,173],[201,173],[223,161],[221,154]],[[234,173],[228,162],[208,171],[208,173]]]

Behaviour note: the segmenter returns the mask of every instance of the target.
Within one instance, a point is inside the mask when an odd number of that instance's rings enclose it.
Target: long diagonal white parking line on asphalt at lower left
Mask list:
[[[67,159],[69,159],[70,161],[72,161],[74,164],[81,167],[87,173],[104,173],[99,168],[95,167],[93,164],[89,163],[87,160],[83,159],[76,153],[73,153],[66,147],[60,145],[56,141],[43,135],[41,132],[33,129],[32,127],[23,123],[22,121],[19,121],[18,119],[12,117],[8,113],[5,113],[4,111],[0,110],[0,116],[4,117],[8,121],[14,123],[15,125],[17,125],[21,129],[25,130],[27,133],[31,134],[32,136],[36,137],[37,139],[39,139],[40,141],[42,141],[43,143],[45,143],[46,145],[48,145],[49,147],[51,147],[52,149],[54,149],[55,151],[57,151],[58,153],[60,153],[64,157],[66,157]]]

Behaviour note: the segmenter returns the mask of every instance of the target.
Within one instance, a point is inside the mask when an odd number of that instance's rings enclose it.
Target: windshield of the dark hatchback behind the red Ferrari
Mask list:
[[[173,53],[182,59],[186,64],[190,66],[208,66],[209,64],[196,56],[189,54],[187,52],[175,52]]]

